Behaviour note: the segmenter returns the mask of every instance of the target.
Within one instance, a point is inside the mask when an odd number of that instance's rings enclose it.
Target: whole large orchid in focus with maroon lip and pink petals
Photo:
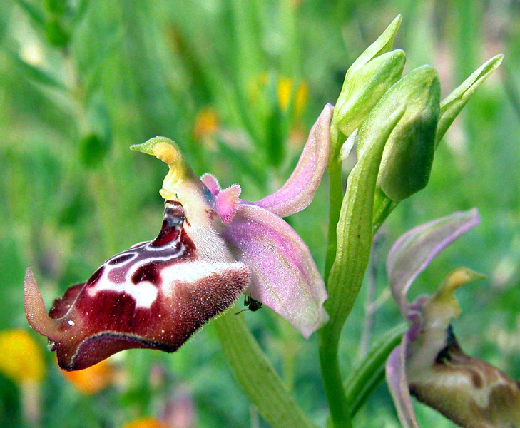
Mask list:
[[[285,185],[255,203],[240,200],[239,185],[222,190],[213,175],[199,179],[168,138],[132,146],[169,167],[157,238],[106,260],[56,299],[49,315],[26,272],[27,320],[49,338],[60,367],[83,369],[129,348],[173,352],[243,292],[307,338],[327,322],[324,282],[282,217],[312,201],[327,165],[331,116],[327,105]]]

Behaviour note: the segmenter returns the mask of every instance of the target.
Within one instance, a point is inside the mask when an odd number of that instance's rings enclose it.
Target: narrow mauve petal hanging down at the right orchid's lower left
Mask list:
[[[386,365],[387,384],[394,399],[397,416],[404,428],[419,428],[415,419],[412,397],[408,389],[406,374],[406,335],[403,336],[401,345],[395,347],[389,355]]]

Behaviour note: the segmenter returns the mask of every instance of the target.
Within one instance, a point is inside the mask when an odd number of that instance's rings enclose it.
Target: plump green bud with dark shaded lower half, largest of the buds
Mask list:
[[[396,105],[406,108],[384,147],[377,178],[377,188],[393,201],[408,198],[428,183],[435,151],[440,96],[437,71],[431,66],[415,68],[384,94],[360,129],[358,157],[366,149],[364,142],[368,141],[361,138],[366,133],[364,130],[377,128],[374,122],[382,126]]]

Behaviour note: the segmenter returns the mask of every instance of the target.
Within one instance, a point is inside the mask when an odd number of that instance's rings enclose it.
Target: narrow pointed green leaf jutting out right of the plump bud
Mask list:
[[[476,89],[486,81],[486,78],[491,76],[491,73],[493,73],[496,68],[499,68],[503,59],[504,54],[498,54],[489,59],[489,61],[486,61],[486,63],[482,64],[476,69],[476,71],[471,73],[471,76],[469,76],[461,86],[442,100],[441,116],[439,118],[439,124],[437,125],[437,138],[435,141],[436,148],[449,126],[452,125],[455,118],[468,102],[469,97],[471,97]]]

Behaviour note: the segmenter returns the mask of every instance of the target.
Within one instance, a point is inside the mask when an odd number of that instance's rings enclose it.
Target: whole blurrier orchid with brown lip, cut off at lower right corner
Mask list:
[[[431,261],[479,223],[476,210],[458,212],[402,235],[387,259],[394,299],[411,323],[387,360],[387,383],[405,428],[417,428],[410,394],[466,428],[520,427],[519,384],[487,362],[464,354],[451,322],[460,309],[454,291],[483,275],[449,273],[432,296],[407,301],[414,279]]]

